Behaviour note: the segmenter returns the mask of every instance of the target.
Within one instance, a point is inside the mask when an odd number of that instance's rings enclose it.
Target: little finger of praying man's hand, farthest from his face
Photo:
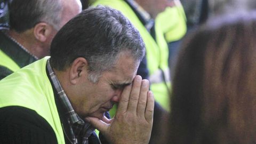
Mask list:
[[[146,121],[151,123],[153,122],[153,115],[154,115],[154,94],[151,91],[148,91],[148,97],[147,97],[147,106],[145,110],[145,118]]]

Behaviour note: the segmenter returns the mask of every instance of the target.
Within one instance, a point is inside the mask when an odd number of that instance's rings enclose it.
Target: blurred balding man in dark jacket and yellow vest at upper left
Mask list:
[[[49,55],[54,35],[81,11],[79,0],[10,1],[10,30],[0,32],[0,79]]]

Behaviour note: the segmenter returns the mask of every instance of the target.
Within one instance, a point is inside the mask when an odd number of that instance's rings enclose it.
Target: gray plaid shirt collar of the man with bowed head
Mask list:
[[[94,127],[92,127],[89,123],[85,123],[75,112],[71,103],[67,97],[67,94],[62,89],[60,82],[57,76],[54,74],[52,67],[50,65],[50,61],[47,60],[47,70],[51,76],[54,88],[57,90],[58,96],[61,99],[63,106],[66,109],[66,118],[68,119],[72,140],[71,143],[77,144],[87,144],[88,137],[94,132]]]

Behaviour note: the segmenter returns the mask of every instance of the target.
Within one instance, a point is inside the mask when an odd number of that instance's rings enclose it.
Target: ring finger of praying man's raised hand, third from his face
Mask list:
[[[137,106],[137,115],[140,117],[145,117],[148,90],[149,90],[149,82],[147,79],[143,79],[141,83],[140,97],[139,97],[139,102]]]

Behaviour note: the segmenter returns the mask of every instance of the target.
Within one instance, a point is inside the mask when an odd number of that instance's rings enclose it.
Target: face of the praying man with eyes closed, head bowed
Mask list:
[[[78,95],[73,97],[71,103],[82,118],[91,116],[101,119],[119,101],[124,87],[132,83],[139,61],[134,61],[127,53],[123,53],[117,61],[115,68],[103,72],[97,83],[84,77],[84,82],[79,84]]]

